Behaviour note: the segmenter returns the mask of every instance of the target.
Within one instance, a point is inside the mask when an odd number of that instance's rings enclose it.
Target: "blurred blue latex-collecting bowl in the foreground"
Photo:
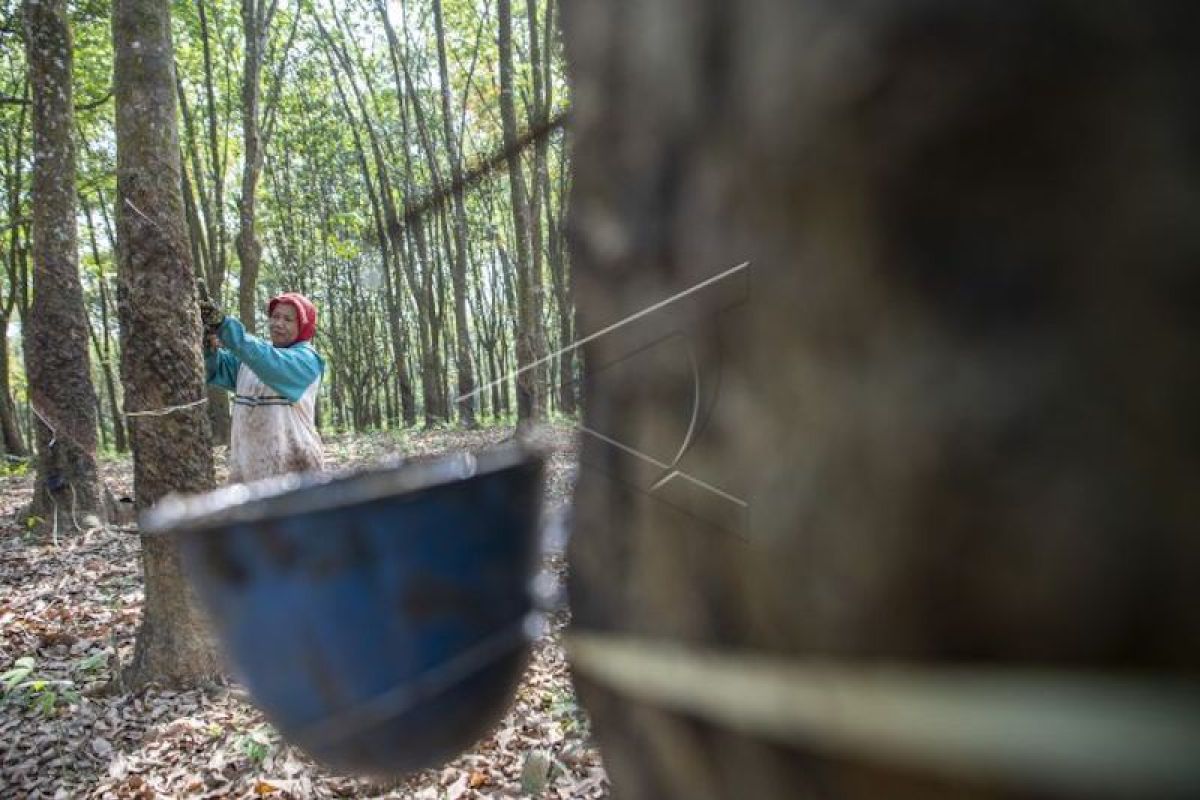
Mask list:
[[[232,666],[329,766],[444,763],[508,706],[528,657],[542,458],[518,447],[164,499]]]

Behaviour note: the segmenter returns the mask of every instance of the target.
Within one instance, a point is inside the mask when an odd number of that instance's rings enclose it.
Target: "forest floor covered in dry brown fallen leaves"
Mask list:
[[[475,450],[510,428],[338,437],[330,465],[392,453]],[[547,427],[547,507],[566,501],[576,439]],[[218,450],[218,462],[221,462]],[[109,488],[132,494],[127,458],[102,463]],[[218,479],[223,479],[218,469]],[[331,774],[280,735],[232,682],[138,693],[112,682],[142,615],[138,536],[119,528],[31,534],[16,524],[29,475],[0,477],[0,798],[598,798],[608,792],[559,646],[564,619],[534,645],[499,726],[440,769],[380,783]],[[547,566],[565,573],[560,555]]]

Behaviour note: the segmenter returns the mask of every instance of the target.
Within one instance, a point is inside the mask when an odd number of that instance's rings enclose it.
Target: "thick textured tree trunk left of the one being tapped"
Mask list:
[[[66,529],[104,517],[96,471],[96,391],[76,235],[74,107],[65,0],[26,0],[25,53],[34,101],[34,301],[25,368],[37,426],[30,513]]]

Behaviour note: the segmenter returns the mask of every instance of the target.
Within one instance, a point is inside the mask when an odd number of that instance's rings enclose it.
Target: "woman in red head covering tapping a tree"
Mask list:
[[[272,297],[266,313],[270,342],[247,333],[211,302],[200,302],[211,335],[205,337],[206,379],[234,392],[230,483],[322,467],[314,413],[325,362],[311,344],[317,308],[288,291]]]

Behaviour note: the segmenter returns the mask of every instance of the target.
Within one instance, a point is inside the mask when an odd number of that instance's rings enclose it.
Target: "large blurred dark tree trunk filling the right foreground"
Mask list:
[[[587,347],[576,633],[1194,680],[1192,10],[564,4],[581,332],[750,261]],[[1055,794],[575,675],[616,798]]]

